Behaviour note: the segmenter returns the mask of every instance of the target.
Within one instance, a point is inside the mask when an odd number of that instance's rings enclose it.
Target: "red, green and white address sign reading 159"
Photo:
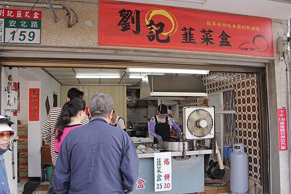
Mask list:
[[[41,13],[0,8],[0,43],[40,44]]]

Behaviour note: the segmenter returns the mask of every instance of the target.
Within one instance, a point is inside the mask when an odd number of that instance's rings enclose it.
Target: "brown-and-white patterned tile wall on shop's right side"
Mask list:
[[[234,89],[236,142],[245,145],[248,154],[249,178],[260,183],[259,104],[256,74],[211,72],[202,76],[208,93]],[[200,106],[203,98],[179,101],[179,119],[184,106]]]

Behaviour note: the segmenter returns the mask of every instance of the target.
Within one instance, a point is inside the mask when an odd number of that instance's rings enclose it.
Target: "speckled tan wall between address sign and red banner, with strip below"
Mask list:
[[[136,47],[120,47],[120,46],[99,46],[98,45],[98,2],[70,2],[70,1],[58,1],[54,3],[63,3],[66,6],[73,9],[78,15],[78,23],[72,28],[67,27],[68,17],[66,16],[65,10],[56,9],[58,16],[58,22],[54,22],[54,18],[51,12],[44,11],[40,8],[34,8],[34,10],[42,10],[42,29],[41,29],[41,44],[40,45],[25,45],[25,47],[66,47],[66,48],[81,48],[77,52],[82,52],[83,48],[113,48],[118,50],[128,51],[159,51],[167,53],[178,53],[178,54],[204,54],[208,55],[210,52],[197,52],[197,51],[183,51],[183,50],[171,50],[171,49],[155,49],[155,48],[136,48]],[[11,7],[25,9],[24,7]],[[86,10],[86,11],[84,11]],[[85,25],[85,21],[90,20],[93,27]],[[114,37],[113,37],[114,38]],[[24,45],[19,45],[24,46]],[[7,48],[9,47],[6,46]],[[59,50],[61,51],[61,50]],[[106,52],[104,50],[104,52]],[[234,54],[222,54],[222,53],[211,53],[211,56],[231,56],[237,57]],[[52,57],[52,56],[50,56]],[[248,56],[239,56],[239,58],[248,58]],[[253,59],[253,58],[252,58]]]

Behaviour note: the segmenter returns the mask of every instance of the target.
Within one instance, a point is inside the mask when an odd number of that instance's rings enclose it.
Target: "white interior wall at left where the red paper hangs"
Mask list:
[[[47,118],[45,102],[49,97],[50,108],[53,106],[53,93],[61,95],[61,85],[44,72],[41,68],[26,68],[17,70],[17,78],[20,82],[20,114],[22,123],[28,124],[28,176],[41,177],[42,139],[41,127]],[[29,89],[40,88],[40,120],[28,121]],[[58,104],[60,104],[58,97]]]

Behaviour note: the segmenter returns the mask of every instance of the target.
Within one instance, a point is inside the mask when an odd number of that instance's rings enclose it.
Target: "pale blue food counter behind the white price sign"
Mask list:
[[[189,194],[204,191],[204,154],[211,154],[212,150],[193,150],[172,154],[172,190],[155,193],[154,153],[138,154],[140,161],[139,178],[146,180],[144,189],[135,189],[130,194]]]

